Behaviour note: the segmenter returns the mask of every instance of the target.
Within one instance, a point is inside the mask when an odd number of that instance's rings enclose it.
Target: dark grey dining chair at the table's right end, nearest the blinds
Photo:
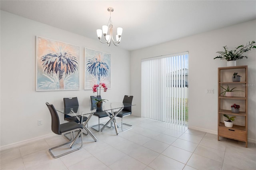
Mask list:
[[[132,104],[132,99],[133,99],[133,96],[128,96],[128,95],[125,95],[124,96],[124,99],[123,99],[123,103],[124,103],[124,106],[126,105],[126,103],[128,104]],[[115,114],[116,112],[114,112]],[[120,113],[118,113],[118,115],[116,117],[120,117],[122,118],[121,120],[121,128],[122,128],[122,131],[124,130],[128,130],[129,128],[132,128],[132,125],[129,125],[127,123],[123,123],[123,118],[126,117],[126,116],[129,116],[132,114],[132,106],[128,106],[128,107],[124,107],[124,109],[122,109],[122,111],[120,111]],[[123,125],[126,125],[128,126],[128,128],[125,128],[123,129]],[[119,125],[120,126],[120,125]]]

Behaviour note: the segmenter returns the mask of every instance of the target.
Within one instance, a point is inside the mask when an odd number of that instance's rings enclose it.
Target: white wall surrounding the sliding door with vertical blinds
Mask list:
[[[213,58],[225,45],[234,49],[252,40],[256,41],[256,20],[132,51],[131,93],[141,94],[141,59],[189,51],[188,127],[217,134],[217,68],[225,67],[226,61]],[[245,54],[248,59],[238,60],[237,65],[248,65],[252,85],[248,87],[248,140],[256,142],[256,50]],[[206,89],[214,89],[214,94],[206,94]],[[140,96],[134,97],[134,103],[133,111],[141,116]]]

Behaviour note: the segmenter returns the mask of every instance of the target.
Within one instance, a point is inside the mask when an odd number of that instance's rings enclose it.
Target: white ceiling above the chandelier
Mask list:
[[[256,0],[1,0],[0,6],[94,40],[112,7],[114,35],[123,28],[119,47],[129,51],[256,19]]]

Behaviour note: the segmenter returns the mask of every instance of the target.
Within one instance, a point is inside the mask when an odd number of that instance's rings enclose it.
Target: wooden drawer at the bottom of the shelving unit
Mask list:
[[[246,141],[246,132],[241,130],[219,127],[219,135],[226,138]]]

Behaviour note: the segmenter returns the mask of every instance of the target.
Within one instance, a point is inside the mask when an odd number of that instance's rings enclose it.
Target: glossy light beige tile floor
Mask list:
[[[256,170],[256,144],[221,138],[184,126],[129,116],[133,128],[84,135],[83,148],[52,158],[61,135],[1,151],[1,170]],[[78,141],[79,144],[79,141]]]

